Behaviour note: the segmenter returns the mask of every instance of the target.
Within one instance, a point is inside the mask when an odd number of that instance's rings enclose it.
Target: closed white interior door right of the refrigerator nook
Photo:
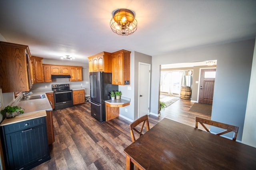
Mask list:
[[[150,64],[139,63],[138,118],[149,113]]]

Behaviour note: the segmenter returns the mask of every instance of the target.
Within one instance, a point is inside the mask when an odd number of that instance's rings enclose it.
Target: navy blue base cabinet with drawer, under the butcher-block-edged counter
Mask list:
[[[50,160],[45,117],[2,126],[2,139],[8,170],[28,170]]]

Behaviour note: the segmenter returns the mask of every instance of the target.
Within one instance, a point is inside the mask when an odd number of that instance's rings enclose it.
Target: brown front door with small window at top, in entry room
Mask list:
[[[201,69],[198,103],[212,105],[216,69]]]

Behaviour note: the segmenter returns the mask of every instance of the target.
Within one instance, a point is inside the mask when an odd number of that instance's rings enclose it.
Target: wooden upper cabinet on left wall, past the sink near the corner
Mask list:
[[[43,58],[32,56],[31,61],[33,60],[33,75],[34,77],[34,83],[44,83],[44,70],[43,70]]]

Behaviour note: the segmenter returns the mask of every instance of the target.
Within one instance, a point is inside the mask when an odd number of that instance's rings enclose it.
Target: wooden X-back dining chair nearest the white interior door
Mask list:
[[[130,124],[130,132],[131,132],[132,142],[134,142],[136,140],[135,136],[134,136],[134,131],[137,132],[140,136],[142,136],[142,130],[143,130],[145,122],[146,122],[147,131],[148,131],[149,130],[148,115],[144,115]],[[139,125],[140,123],[142,123],[142,127],[140,128],[140,131],[139,131],[136,129],[136,126]]]

